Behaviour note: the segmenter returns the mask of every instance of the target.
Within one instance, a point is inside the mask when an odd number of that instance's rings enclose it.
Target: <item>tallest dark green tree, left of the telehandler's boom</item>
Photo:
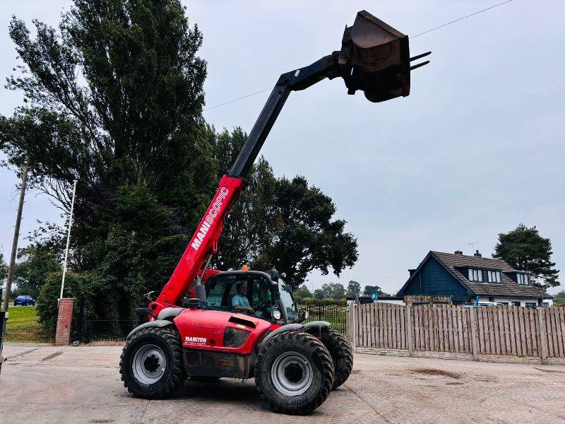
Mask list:
[[[9,27],[22,64],[8,88],[24,103],[0,117],[0,147],[64,212],[78,179],[71,271],[102,317],[129,317],[215,189],[202,35],[179,0],[75,0],[59,28],[33,25]]]

